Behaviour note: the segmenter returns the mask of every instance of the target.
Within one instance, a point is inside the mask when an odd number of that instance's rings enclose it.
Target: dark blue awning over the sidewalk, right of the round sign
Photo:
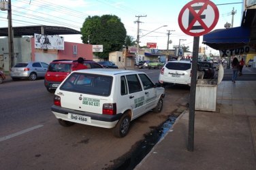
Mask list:
[[[202,43],[216,50],[239,48],[250,42],[250,32],[248,27],[217,29],[204,35]]]

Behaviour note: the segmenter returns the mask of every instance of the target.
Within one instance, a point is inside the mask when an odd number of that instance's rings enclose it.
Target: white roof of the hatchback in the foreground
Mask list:
[[[118,74],[129,74],[129,73],[144,73],[142,71],[127,70],[127,69],[80,69],[74,71],[77,73],[93,73],[101,75],[118,75]]]

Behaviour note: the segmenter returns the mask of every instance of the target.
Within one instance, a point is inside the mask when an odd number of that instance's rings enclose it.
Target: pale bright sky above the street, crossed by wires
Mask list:
[[[187,0],[12,0],[12,26],[22,27],[31,25],[52,25],[69,27],[80,31],[88,16],[112,14],[121,18],[127,35],[136,40],[140,17],[140,46],[146,43],[157,43],[160,50],[167,49],[167,31],[170,30],[169,49],[173,46],[189,46],[193,50],[193,36],[183,33],[178,24],[178,15]],[[219,20],[214,29],[225,29],[226,22],[231,23],[231,11],[234,15],[234,27],[240,27],[242,18],[242,0],[212,0],[219,10]],[[233,3],[233,4],[229,4]],[[167,27],[163,27],[167,25]],[[7,27],[7,11],[0,11],[0,27]],[[212,29],[212,31],[214,30]],[[65,41],[82,43],[81,35],[63,35]],[[185,39],[185,40],[182,40]],[[203,36],[199,37],[199,46]],[[207,47],[207,52],[218,54],[217,50]]]

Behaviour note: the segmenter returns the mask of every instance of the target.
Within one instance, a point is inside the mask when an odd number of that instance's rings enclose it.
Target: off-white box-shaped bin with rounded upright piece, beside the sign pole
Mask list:
[[[217,107],[217,86],[223,80],[223,65],[219,65],[218,79],[199,79],[195,88],[195,110],[215,112]]]

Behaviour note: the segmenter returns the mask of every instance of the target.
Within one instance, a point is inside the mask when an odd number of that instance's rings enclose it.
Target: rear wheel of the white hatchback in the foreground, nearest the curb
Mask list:
[[[118,121],[113,129],[113,134],[115,137],[125,137],[129,132],[131,118],[126,113]]]

